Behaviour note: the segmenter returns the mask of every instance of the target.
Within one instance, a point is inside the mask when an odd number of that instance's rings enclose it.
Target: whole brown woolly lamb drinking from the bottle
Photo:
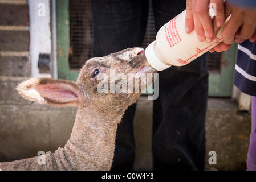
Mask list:
[[[104,57],[94,57],[83,66],[76,82],[52,78],[30,78],[18,85],[18,93],[39,104],[77,106],[71,137],[64,148],[46,152],[45,164],[38,156],[0,163],[0,170],[109,170],[112,165],[117,125],[139,93],[99,93],[99,82],[111,84],[111,69],[138,77],[155,70],[147,65],[144,49],[127,48]],[[154,77],[155,78],[155,77]],[[116,81],[115,83],[116,84]],[[134,81],[133,88],[141,82]]]

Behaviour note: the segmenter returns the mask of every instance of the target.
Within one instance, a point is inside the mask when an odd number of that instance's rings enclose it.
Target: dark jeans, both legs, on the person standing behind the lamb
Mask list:
[[[156,31],[185,10],[185,1],[153,0]],[[141,46],[148,16],[148,1],[92,0],[93,56],[105,56]],[[208,97],[206,57],[184,67],[159,72],[159,98],[153,101],[153,168],[203,170],[205,113]],[[112,169],[132,169],[135,157],[130,106],[117,129]]]

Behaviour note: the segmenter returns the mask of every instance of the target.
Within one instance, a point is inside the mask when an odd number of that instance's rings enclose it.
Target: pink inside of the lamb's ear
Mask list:
[[[56,103],[79,101],[78,91],[68,84],[45,84],[35,86],[34,89],[41,97]]]

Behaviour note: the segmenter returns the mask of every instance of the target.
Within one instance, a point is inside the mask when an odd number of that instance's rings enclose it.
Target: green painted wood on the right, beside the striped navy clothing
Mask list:
[[[233,44],[229,51],[223,53],[220,73],[210,73],[209,75],[209,96],[231,96],[236,55],[237,44]]]

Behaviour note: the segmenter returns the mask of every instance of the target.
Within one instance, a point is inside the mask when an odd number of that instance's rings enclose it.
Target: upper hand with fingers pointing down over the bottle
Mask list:
[[[216,5],[216,16],[209,16],[209,4]],[[225,20],[224,0],[187,0],[185,31],[196,30],[200,41],[212,42]]]

